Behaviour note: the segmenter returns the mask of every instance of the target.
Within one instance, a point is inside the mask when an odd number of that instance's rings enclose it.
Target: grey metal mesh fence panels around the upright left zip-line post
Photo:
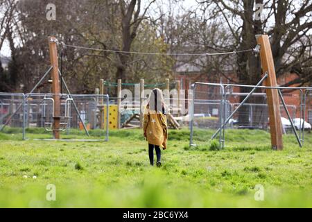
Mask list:
[[[0,130],[22,139],[53,139],[55,96],[60,98],[61,139],[108,140],[107,95],[0,93]],[[105,116],[106,115],[106,116]]]

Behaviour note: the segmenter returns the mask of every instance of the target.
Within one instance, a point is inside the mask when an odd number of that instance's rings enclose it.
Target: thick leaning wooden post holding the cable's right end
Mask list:
[[[266,85],[277,86],[274,60],[268,35],[256,35],[257,44],[260,44],[261,69],[263,74],[268,73]],[[281,113],[279,110],[279,94],[277,89],[266,89],[268,110],[270,117],[271,144],[273,149],[283,149],[283,138],[281,130]]]

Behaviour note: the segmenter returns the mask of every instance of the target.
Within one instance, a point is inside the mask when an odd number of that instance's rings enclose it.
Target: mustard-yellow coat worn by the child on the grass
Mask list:
[[[148,144],[154,144],[166,149],[168,138],[167,118],[162,112],[150,110],[148,106],[144,112],[144,135]]]

